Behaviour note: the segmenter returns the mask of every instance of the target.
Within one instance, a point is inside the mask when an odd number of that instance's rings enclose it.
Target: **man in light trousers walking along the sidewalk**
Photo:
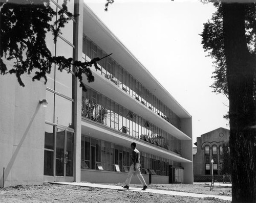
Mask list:
[[[122,186],[123,188],[129,189],[129,185],[131,183],[132,180],[132,176],[133,174],[136,174],[141,182],[141,184],[143,185],[142,190],[145,190],[147,188],[145,180],[140,172],[140,152],[138,149],[136,149],[136,143],[133,142],[131,144],[131,148],[133,149],[132,152],[132,165],[130,167],[130,171],[127,175],[127,179],[125,181],[125,186]]]

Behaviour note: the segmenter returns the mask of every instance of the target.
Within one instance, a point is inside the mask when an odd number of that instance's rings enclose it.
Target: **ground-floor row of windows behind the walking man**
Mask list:
[[[81,168],[129,172],[131,149],[108,141],[82,135],[81,137]],[[169,174],[169,165],[176,162],[164,159],[140,150],[141,173],[153,172],[157,175]],[[177,166],[179,163],[177,163]],[[181,180],[179,180],[180,182]]]

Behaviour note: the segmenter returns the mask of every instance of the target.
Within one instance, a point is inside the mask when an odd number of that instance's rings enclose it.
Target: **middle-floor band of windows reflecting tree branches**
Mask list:
[[[51,95],[48,97],[50,96]],[[59,102],[60,98],[64,97],[56,95],[56,98],[56,102]],[[72,101],[70,99],[66,100],[67,106],[69,106],[67,109],[70,109],[70,112],[72,112]],[[61,105],[65,105],[66,103],[61,103]],[[136,115],[129,109],[122,107],[110,98],[105,97],[93,89],[88,88],[87,92],[82,92],[81,103],[81,115],[83,117],[91,119],[95,122],[102,123],[106,126],[109,126],[110,128],[116,129],[122,133],[134,136],[136,138],[144,138],[144,135],[147,135],[153,139],[150,141],[152,144],[156,144],[163,148],[168,147],[166,149],[171,151],[180,151],[181,145],[178,139],[175,139],[172,135],[158,128],[153,123],[146,121],[144,118]],[[63,116],[61,117],[62,112],[60,110],[60,107],[56,108],[56,122],[58,122],[58,124],[67,123],[69,126],[72,126],[73,120],[68,117],[65,117],[65,119],[62,118]],[[53,117],[53,115],[47,117]],[[144,138],[144,141],[149,140]],[[103,163],[102,166],[105,170],[106,167],[103,165]],[[114,167],[114,165],[111,167]],[[121,167],[120,170],[122,170]]]

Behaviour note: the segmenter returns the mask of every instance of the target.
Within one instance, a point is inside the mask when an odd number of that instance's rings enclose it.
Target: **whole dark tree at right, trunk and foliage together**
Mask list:
[[[229,98],[232,202],[256,202],[254,3],[215,2],[204,24],[203,48],[215,58],[214,91]]]

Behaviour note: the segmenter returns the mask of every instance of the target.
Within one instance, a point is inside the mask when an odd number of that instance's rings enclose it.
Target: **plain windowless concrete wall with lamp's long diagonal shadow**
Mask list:
[[[44,81],[0,75],[0,187],[42,184],[44,172]],[[3,168],[5,179],[3,180]]]

